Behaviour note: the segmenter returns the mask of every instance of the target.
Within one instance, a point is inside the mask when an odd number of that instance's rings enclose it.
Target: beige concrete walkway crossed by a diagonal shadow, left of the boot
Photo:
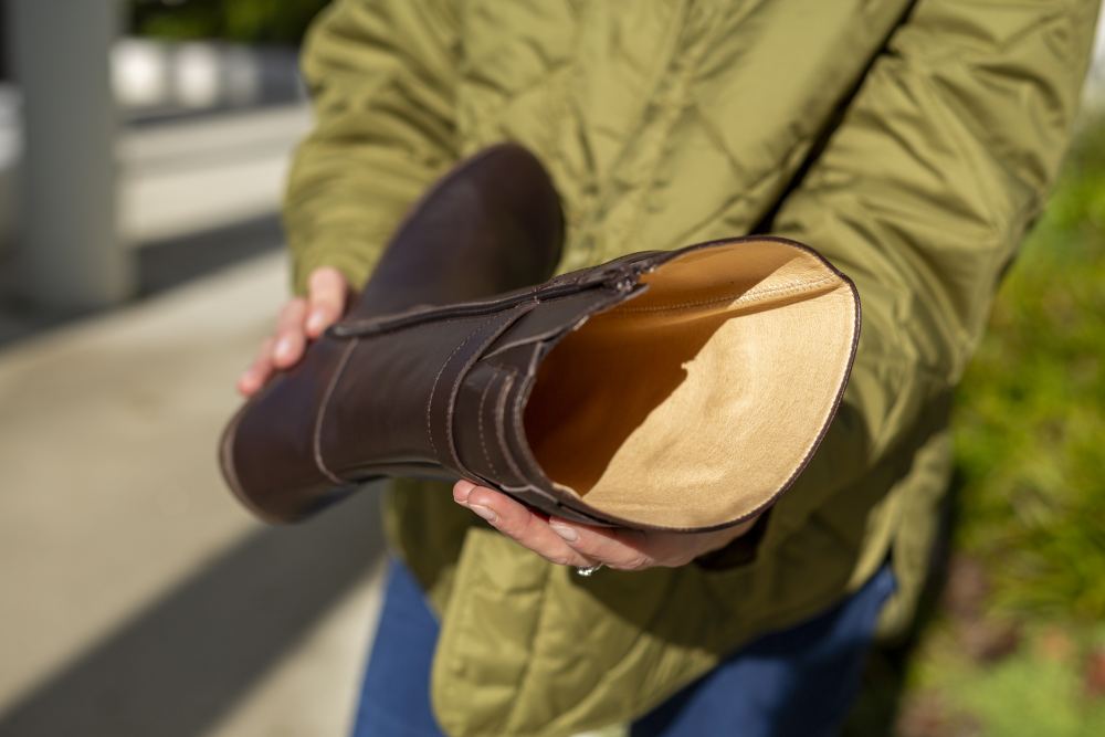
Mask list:
[[[215,466],[284,288],[262,256],[0,352],[0,734],[347,731],[378,494],[267,528]]]

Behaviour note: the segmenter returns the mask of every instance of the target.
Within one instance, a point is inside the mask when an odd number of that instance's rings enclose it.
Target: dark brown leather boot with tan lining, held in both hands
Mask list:
[[[232,420],[221,457],[239,498],[294,520],[380,476],[463,476],[591,524],[702,530],[762,512],[835,413],[859,337],[851,281],[753,236],[503,293],[545,278],[560,238],[523,149],[450,173],[350,314]]]

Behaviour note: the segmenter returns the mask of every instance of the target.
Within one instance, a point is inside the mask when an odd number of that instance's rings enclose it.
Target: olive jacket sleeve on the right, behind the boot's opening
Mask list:
[[[946,403],[1055,179],[1096,13],[920,0],[786,198],[772,231],[854,278],[863,327],[841,412],[772,524],[840,501]]]

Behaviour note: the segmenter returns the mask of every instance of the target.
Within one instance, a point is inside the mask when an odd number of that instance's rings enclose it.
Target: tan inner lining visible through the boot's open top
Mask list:
[[[593,507],[665,527],[770,499],[820,432],[855,329],[848,285],[778,241],[694,251],[552,348],[525,412],[534,454]]]

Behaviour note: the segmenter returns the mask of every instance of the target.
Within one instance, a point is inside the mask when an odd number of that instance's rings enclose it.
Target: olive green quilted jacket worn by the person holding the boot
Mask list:
[[[808,242],[856,283],[840,413],[727,567],[590,579],[399,482],[387,528],[441,617],[454,737],[629,720],[891,560],[908,621],[949,472],[950,396],[1067,141],[1095,0],[339,0],[304,70],[314,131],[285,221],[296,288],[360,284],[404,210],[502,140],[564,198],[562,271],[748,232]],[[457,263],[457,269],[464,264]]]

